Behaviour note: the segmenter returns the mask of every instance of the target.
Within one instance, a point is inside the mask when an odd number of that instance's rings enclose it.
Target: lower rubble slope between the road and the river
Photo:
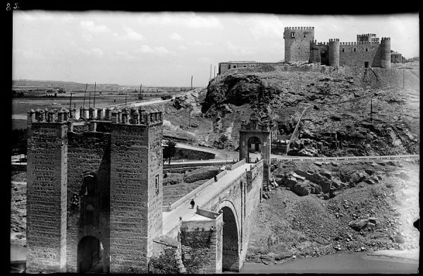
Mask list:
[[[272,174],[247,262],[419,248],[419,162],[284,162]]]

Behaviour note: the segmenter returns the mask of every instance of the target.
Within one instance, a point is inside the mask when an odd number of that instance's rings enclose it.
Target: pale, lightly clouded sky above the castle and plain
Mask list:
[[[285,27],[355,42],[375,33],[419,56],[418,13],[302,16],[262,13],[14,11],[12,78],[139,86],[207,86],[219,62],[284,59]]]

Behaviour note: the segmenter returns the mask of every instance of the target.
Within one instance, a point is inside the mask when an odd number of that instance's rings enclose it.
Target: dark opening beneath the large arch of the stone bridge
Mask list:
[[[235,215],[231,208],[223,207],[222,271],[240,269],[240,242]]]

